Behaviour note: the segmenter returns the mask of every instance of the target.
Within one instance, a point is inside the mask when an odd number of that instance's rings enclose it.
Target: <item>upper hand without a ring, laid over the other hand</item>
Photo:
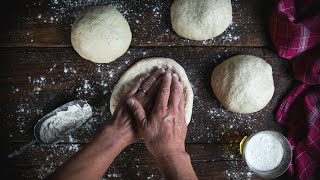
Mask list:
[[[164,75],[150,114],[135,97],[126,102],[137,120],[140,136],[156,159],[185,154],[185,99],[176,74],[167,71]]]

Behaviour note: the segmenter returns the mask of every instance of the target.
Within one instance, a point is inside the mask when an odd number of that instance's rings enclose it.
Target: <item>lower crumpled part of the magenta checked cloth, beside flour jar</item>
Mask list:
[[[276,119],[289,131],[292,177],[320,179],[320,47],[293,59],[299,82],[281,103]]]

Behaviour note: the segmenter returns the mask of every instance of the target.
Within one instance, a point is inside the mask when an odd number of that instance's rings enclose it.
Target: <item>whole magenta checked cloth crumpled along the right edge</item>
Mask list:
[[[270,34],[278,55],[291,59],[294,88],[276,119],[288,128],[291,178],[320,179],[320,0],[276,0]],[[293,59],[292,59],[293,58]]]

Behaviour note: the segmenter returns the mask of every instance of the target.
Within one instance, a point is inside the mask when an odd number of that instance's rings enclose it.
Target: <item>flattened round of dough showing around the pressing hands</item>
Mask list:
[[[143,59],[129,68],[119,79],[116,87],[114,88],[110,99],[110,111],[113,114],[118,102],[123,94],[128,92],[132,87],[132,84],[136,82],[137,77],[141,77],[144,74],[152,73],[159,67],[170,68],[173,72],[177,73],[180,77],[180,81],[183,85],[183,92],[185,96],[185,111],[186,122],[189,124],[192,114],[193,106],[193,91],[191,84],[188,80],[187,74],[183,67],[173,59],[155,57]]]

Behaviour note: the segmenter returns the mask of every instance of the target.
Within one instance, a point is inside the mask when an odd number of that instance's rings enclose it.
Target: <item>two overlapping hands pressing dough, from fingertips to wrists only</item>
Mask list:
[[[178,75],[159,68],[140,78],[121,98],[111,128],[124,146],[143,138],[156,159],[185,153],[184,106]]]

